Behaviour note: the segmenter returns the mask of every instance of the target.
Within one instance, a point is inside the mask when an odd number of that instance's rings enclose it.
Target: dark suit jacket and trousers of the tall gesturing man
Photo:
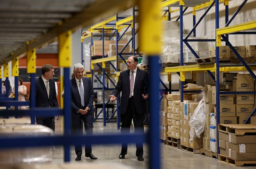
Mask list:
[[[131,122],[133,120],[135,132],[143,131],[143,116],[147,113],[146,100],[142,94],[148,94],[148,73],[144,70],[137,69],[133,97],[130,96],[130,70],[124,70],[120,73],[118,83],[112,92],[112,95],[117,96],[122,92],[120,114],[121,114],[121,133],[129,133]],[[136,156],[143,156],[143,145],[137,144]],[[122,144],[121,153],[127,152],[127,144]]]

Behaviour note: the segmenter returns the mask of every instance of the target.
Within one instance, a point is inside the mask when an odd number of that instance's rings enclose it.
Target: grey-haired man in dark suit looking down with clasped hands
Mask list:
[[[70,80],[71,86],[71,108],[72,108],[72,131],[73,133],[83,134],[81,130],[84,121],[84,130],[87,135],[92,135],[92,116],[95,112],[93,106],[94,92],[91,79],[83,77],[84,66],[80,63],[74,65],[75,77]],[[81,160],[82,145],[75,145],[76,161]],[[85,157],[97,159],[92,155],[92,145],[85,145]]]

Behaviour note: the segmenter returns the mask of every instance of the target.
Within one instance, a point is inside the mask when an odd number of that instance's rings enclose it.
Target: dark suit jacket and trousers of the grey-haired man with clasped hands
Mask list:
[[[91,79],[87,77],[82,77],[84,84],[84,107],[81,104],[81,98],[79,94],[79,90],[76,84],[76,78],[70,80],[71,87],[71,108],[72,108],[72,133],[73,134],[83,134],[83,130],[81,130],[82,121],[84,121],[84,129],[87,135],[92,135],[93,123],[92,117],[95,112],[95,108],[93,106],[94,101],[94,92],[92,87]],[[77,113],[79,109],[85,110],[86,107],[89,107],[89,111],[87,114]],[[82,155],[82,145],[75,145],[75,151],[77,156]],[[85,153],[92,152],[92,145],[85,145]]]

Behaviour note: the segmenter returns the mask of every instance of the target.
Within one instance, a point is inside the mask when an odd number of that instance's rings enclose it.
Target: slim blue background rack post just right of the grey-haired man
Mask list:
[[[104,28],[102,28],[102,58],[105,57],[104,54]],[[103,108],[103,126],[106,126],[106,108],[105,108],[105,63],[102,62],[102,108]]]

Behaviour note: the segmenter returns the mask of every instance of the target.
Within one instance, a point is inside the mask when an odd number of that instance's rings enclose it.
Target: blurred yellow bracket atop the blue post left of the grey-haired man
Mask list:
[[[71,40],[72,31],[69,30],[64,33],[60,33],[58,36],[59,40],[59,66],[64,68],[71,67]]]

